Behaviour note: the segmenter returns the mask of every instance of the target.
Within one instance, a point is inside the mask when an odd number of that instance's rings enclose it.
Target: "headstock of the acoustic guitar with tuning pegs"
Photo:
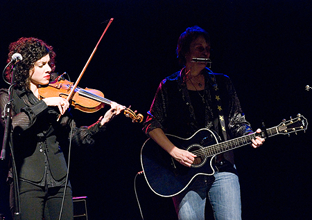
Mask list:
[[[297,114],[297,118],[291,118],[291,120],[283,121],[277,126],[279,134],[291,134],[297,131],[306,130],[308,127],[308,121],[304,116]]]

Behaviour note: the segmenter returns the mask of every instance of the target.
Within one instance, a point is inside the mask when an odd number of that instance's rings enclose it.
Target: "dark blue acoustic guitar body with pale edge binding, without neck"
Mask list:
[[[166,134],[171,142],[189,152],[202,152],[204,147],[218,143],[220,138],[209,129],[200,129],[190,138],[180,138]],[[196,154],[198,155],[198,154]],[[141,149],[141,165],[146,181],[153,192],[169,197],[179,194],[187,188],[196,176],[213,175],[214,156],[198,156],[191,167],[181,165],[151,138],[146,140]]]

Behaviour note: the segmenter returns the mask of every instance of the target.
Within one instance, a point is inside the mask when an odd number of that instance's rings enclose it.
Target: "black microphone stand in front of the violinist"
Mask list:
[[[8,140],[11,138],[10,142],[10,152],[11,152],[11,162],[12,162],[12,176],[13,176],[13,187],[14,187],[14,196],[15,196],[15,213],[14,213],[14,219],[15,220],[20,220],[21,215],[20,215],[20,202],[19,202],[19,183],[18,183],[18,178],[17,178],[17,170],[16,170],[16,165],[15,165],[15,156],[14,156],[14,149],[13,149],[13,144],[12,144],[12,116],[11,116],[11,109],[12,109],[12,102],[13,102],[13,92],[14,92],[14,87],[15,87],[15,73],[17,69],[17,64],[16,62],[13,65],[12,68],[12,77],[11,77],[11,85],[8,89],[8,94],[9,94],[9,99],[8,103],[6,104],[6,107],[4,108],[3,116],[5,120],[5,130],[4,130],[4,136],[3,136],[3,143],[2,143],[2,149],[1,149],[1,160],[6,160],[6,147],[8,146]]]

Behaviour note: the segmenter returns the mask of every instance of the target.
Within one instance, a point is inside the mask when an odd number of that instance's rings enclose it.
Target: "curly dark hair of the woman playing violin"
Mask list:
[[[34,37],[21,37],[17,42],[13,42],[9,46],[8,60],[14,53],[20,53],[23,59],[17,65],[15,73],[15,83],[19,89],[30,89],[30,75],[29,71],[35,66],[35,62],[46,55],[50,55],[49,66],[52,71],[55,70],[55,52],[53,47],[49,46],[41,39]],[[6,79],[10,81],[12,77],[12,64],[6,68]]]

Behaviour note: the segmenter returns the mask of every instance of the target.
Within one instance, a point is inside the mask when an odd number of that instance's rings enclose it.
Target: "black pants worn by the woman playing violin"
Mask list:
[[[64,185],[60,187],[40,187],[19,181],[19,197],[22,220],[58,220],[62,206]],[[73,199],[71,185],[67,186],[62,219],[73,219]]]

